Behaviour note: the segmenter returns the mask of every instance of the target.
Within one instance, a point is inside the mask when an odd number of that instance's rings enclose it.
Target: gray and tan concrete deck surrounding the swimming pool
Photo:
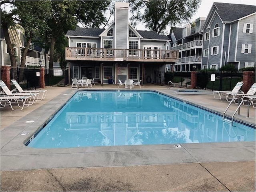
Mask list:
[[[92,90],[91,88],[83,88]],[[116,90],[116,85],[93,90]],[[1,108],[1,191],[255,191],[255,142],[34,149],[23,145],[76,88],[46,87],[45,100],[22,111]],[[81,90],[81,89],[79,89]],[[120,90],[124,90],[123,86]],[[140,90],[140,89],[139,89]],[[145,84],[223,114],[228,102],[212,91],[177,92]],[[232,104],[227,116],[232,116]],[[241,106],[235,119],[255,126],[255,109]],[[33,123],[26,121],[33,120]],[[22,136],[22,133],[29,133]]]

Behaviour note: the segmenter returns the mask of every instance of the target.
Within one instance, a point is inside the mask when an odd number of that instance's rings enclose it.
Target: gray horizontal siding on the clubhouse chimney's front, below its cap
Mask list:
[[[126,49],[128,40],[128,9],[116,9],[116,48]]]

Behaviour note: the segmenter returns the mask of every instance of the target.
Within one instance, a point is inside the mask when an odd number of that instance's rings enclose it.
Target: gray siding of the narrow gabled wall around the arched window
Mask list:
[[[212,30],[214,29],[214,26],[216,23],[219,24],[220,35],[216,37],[212,37]],[[222,30],[223,30],[222,22],[219,16],[216,15],[210,26],[210,46],[209,46],[209,63],[208,63],[209,67],[212,64],[218,64],[218,68],[220,68]],[[214,46],[219,46],[219,53],[217,55],[211,55],[212,54],[211,50],[212,50],[212,47]]]

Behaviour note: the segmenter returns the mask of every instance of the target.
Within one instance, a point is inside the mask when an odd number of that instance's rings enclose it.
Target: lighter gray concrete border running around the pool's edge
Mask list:
[[[35,149],[24,146],[25,140],[31,138],[43,124],[46,124],[76,91],[65,91],[14,122],[12,128],[1,131],[1,170],[255,161],[255,142],[180,144],[181,148],[175,148],[172,144],[54,149]],[[91,89],[90,91],[99,90]],[[166,92],[154,91],[170,96]],[[34,122],[26,123],[28,120],[34,120]],[[29,134],[22,136],[22,133]]]

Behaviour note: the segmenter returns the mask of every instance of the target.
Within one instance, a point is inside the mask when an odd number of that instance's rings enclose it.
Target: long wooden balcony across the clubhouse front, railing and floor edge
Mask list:
[[[123,61],[127,62],[177,62],[176,50],[105,49],[66,47],[66,60]]]

